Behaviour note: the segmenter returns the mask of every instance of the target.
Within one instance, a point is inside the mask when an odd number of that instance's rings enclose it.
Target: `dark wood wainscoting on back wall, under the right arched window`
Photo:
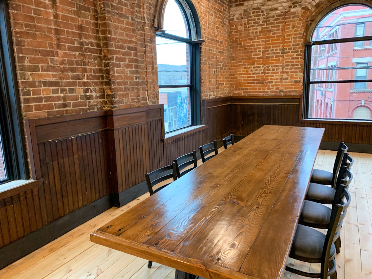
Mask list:
[[[236,121],[232,132],[246,136],[263,125],[289,125],[325,128],[321,148],[334,148],[344,141],[350,151],[372,153],[372,123],[302,120],[301,96],[231,97]]]

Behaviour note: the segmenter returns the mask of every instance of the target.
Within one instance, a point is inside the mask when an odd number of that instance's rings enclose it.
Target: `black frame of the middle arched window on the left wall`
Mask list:
[[[181,129],[185,129],[190,126],[201,125],[200,50],[201,50],[201,44],[204,41],[198,38],[192,38],[192,34],[196,34],[198,37],[200,37],[201,27],[199,24],[198,16],[196,14],[196,10],[193,7],[192,3],[186,0],[174,0],[174,1],[176,1],[178,6],[180,7],[180,10],[183,13],[183,16],[186,20],[185,25],[187,28],[186,31],[188,32],[189,38],[183,38],[180,36],[169,34],[169,33],[166,33],[166,31],[164,30],[159,30],[158,32],[156,32],[156,36],[170,39],[173,41],[186,43],[189,46],[190,82],[189,84],[158,85],[158,88],[159,89],[184,88],[184,87],[190,88],[190,125],[167,131],[165,132],[165,134],[172,133],[172,132],[175,132]],[[189,17],[186,16],[187,12],[186,12],[185,6],[187,7],[187,10],[191,11],[192,13],[191,16],[193,18],[193,23],[191,23],[189,20]],[[192,30],[192,28],[195,28],[195,30]],[[163,121],[163,125],[164,125],[164,121]]]

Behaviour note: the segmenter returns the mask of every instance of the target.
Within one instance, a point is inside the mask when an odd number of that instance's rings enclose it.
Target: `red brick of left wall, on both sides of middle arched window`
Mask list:
[[[27,118],[158,103],[155,0],[10,0]],[[228,94],[228,1],[195,3],[202,98]]]

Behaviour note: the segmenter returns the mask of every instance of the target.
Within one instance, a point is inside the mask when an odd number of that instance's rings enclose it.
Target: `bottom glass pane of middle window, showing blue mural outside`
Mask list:
[[[165,132],[191,125],[190,88],[159,88],[159,103],[164,104]],[[166,112],[167,111],[167,112]]]

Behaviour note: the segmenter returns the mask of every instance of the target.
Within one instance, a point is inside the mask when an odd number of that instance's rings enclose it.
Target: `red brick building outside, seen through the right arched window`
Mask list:
[[[364,36],[371,34],[372,10],[362,6],[346,6],[327,19],[327,25],[337,27],[321,28],[320,39],[351,38],[358,32]],[[312,49],[311,80],[353,80],[364,77],[372,79],[369,69],[372,65],[372,43],[345,42],[340,44],[315,45]],[[349,69],[346,69],[349,67]],[[357,69],[357,68],[360,69]],[[360,77],[359,77],[359,76]],[[310,89],[310,116],[313,118],[372,119],[371,83],[330,83],[313,84]],[[360,114],[362,112],[362,114]]]

